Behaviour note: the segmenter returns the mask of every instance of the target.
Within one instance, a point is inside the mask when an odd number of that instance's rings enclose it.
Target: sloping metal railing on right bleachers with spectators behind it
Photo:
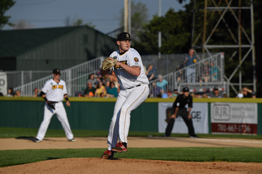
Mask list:
[[[168,90],[181,89],[183,86],[224,85],[223,74],[224,56],[222,52],[216,53],[191,66],[149,81],[149,89],[151,89],[149,97],[156,98]]]

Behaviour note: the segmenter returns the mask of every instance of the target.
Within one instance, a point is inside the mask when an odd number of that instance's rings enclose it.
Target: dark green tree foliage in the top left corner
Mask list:
[[[5,16],[5,12],[9,10],[14,4],[15,1],[13,0],[0,1],[0,29],[2,29],[6,24],[12,26],[12,23],[9,22],[9,18],[11,16]]]

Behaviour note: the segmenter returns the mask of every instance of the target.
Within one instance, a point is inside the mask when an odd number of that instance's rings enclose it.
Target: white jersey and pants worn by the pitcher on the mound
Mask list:
[[[120,83],[121,90],[118,94],[113,118],[109,127],[107,138],[108,150],[116,146],[118,137],[119,141],[127,143],[130,112],[142,104],[149,94],[149,82],[145,75],[141,57],[135,49],[129,48],[122,55],[120,55],[119,50],[114,51],[110,57],[128,66],[140,67],[140,75],[132,75],[121,66],[112,67]]]

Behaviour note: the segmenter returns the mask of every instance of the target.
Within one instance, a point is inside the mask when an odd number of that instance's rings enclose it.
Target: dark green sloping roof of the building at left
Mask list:
[[[15,57],[81,27],[83,26],[2,30],[0,31],[0,57]]]

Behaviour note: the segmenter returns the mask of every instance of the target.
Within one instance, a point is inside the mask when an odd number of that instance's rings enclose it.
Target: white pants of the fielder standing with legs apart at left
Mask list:
[[[58,120],[62,123],[63,129],[65,131],[66,137],[68,140],[71,140],[73,138],[73,133],[70,129],[69,122],[67,120],[67,115],[66,111],[64,108],[64,105],[62,102],[55,103],[54,106],[55,110],[50,108],[46,103],[45,103],[45,108],[44,108],[44,120],[40,125],[40,128],[38,130],[38,136],[36,136],[37,139],[42,141],[45,137],[46,130],[49,126],[50,120],[53,116],[53,114],[57,115]]]

